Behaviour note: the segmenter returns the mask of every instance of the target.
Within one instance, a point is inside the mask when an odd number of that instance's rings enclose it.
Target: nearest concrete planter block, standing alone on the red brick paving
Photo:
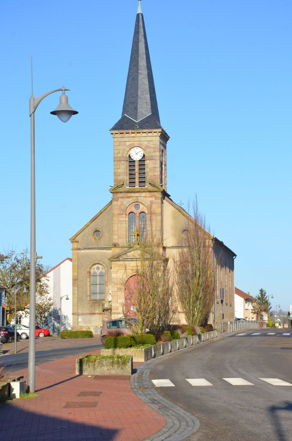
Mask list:
[[[104,349],[110,351],[111,349]],[[133,357],[87,358],[76,359],[76,374],[78,375],[131,375],[133,371]]]

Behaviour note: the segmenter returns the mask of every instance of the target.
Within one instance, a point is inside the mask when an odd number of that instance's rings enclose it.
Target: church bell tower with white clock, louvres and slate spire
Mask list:
[[[113,247],[129,247],[152,227],[162,232],[166,144],[160,123],[141,0],[135,22],[124,105],[110,133],[114,146]]]

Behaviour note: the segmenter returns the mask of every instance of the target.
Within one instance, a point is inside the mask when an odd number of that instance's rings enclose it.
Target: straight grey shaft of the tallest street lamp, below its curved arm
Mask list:
[[[35,392],[35,160],[34,112],[30,115],[30,338],[28,351],[28,389]]]

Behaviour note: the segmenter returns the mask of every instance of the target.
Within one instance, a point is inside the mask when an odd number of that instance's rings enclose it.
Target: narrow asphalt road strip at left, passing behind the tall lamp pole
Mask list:
[[[77,346],[74,348],[61,348],[51,349],[49,351],[37,351],[35,353],[36,365],[41,363],[47,363],[51,360],[60,359],[63,357],[70,357],[71,355],[82,354],[83,352],[94,351],[94,349],[101,349],[104,346],[102,344],[91,344],[87,346]],[[2,355],[0,362],[4,366],[5,370],[13,372],[15,370],[24,369],[28,365],[28,352]]]

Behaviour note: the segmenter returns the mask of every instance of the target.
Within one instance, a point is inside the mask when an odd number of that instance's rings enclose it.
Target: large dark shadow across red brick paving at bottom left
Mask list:
[[[27,400],[37,400],[37,398]],[[65,412],[67,414],[67,409],[64,409]],[[70,421],[65,415],[63,418],[57,418],[19,409],[18,403],[14,405],[13,401],[0,403],[0,414],[0,440],[112,441],[119,434],[119,430],[114,428],[76,422],[75,412],[72,413],[73,421]],[[12,421],[15,421],[15,424]]]

